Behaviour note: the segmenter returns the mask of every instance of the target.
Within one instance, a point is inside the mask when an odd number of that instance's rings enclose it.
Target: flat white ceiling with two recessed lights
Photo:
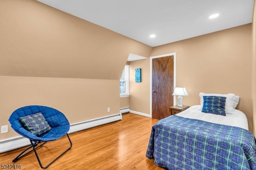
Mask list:
[[[152,47],[251,23],[254,6],[254,0],[38,1]],[[209,19],[214,13],[219,17]]]

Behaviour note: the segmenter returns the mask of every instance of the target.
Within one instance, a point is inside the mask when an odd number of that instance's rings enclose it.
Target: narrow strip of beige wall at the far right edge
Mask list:
[[[252,20],[252,116],[253,133],[256,136],[256,2],[254,1],[254,11]]]

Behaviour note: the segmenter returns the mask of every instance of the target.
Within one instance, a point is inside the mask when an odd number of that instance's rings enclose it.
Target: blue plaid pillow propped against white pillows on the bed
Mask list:
[[[226,97],[203,96],[203,98],[204,98],[204,104],[203,104],[202,112],[226,116],[226,112],[225,112]]]

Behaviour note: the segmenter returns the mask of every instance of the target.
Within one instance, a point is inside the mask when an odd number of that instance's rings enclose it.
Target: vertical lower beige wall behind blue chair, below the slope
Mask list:
[[[10,125],[10,114],[27,105],[54,107],[71,124],[119,113],[119,80],[0,76],[0,82],[0,125]],[[0,139],[12,136],[10,128]]]

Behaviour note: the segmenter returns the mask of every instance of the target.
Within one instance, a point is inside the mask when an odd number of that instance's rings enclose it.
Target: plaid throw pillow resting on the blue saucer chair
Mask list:
[[[40,136],[51,129],[42,113],[20,117],[19,121],[26,130],[32,132],[36,136]]]

